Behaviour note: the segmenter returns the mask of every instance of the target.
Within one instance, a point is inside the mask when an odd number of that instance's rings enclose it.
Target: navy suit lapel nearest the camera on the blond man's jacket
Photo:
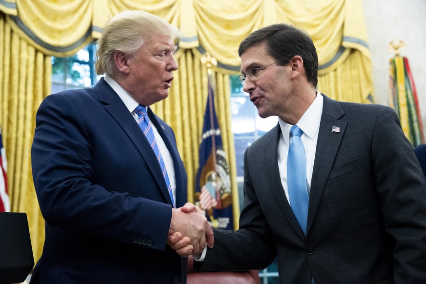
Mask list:
[[[131,116],[129,110],[117,93],[103,80],[103,78],[101,78],[101,80],[96,84],[95,88],[98,90],[100,101],[105,104],[105,110],[117,121],[130,140],[138,148],[155,181],[161,188],[164,198],[169,204],[171,204],[172,202],[162,176],[160,164],[158,163],[157,157],[155,156],[154,151],[152,151],[148,140],[146,140],[146,138],[142,135],[141,128],[138,123]],[[170,149],[168,144],[167,148]]]

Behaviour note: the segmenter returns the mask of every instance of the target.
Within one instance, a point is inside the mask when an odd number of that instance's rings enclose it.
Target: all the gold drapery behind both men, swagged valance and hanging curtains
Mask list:
[[[277,22],[305,29],[319,55],[318,89],[341,101],[373,101],[361,0],[318,0],[314,4],[310,0],[0,0],[4,43],[0,47],[0,125],[9,161],[12,209],[28,214],[35,259],[41,255],[44,227],[31,180],[29,147],[35,112],[50,94],[49,56],[75,54],[99,38],[103,24],[123,10],[145,10],[183,32],[176,53],[180,69],[175,72],[170,97],[153,109],[176,132],[188,172],[189,201],[193,201],[207,96],[200,54],[207,51],[218,61],[213,69],[215,103],[234,188],[229,74],[239,73],[238,46],[251,31]],[[31,112],[22,111],[29,105]],[[234,204],[238,204],[237,194]],[[236,210],[234,217],[238,225]]]

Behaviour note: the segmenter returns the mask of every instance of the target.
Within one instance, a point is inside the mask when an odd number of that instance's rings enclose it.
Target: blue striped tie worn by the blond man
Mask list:
[[[158,148],[157,142],[155,141],[154,131],[152,130],[151,122],[149,121],[149,117],[146,112],[146,107],[138,105],[135,109],[135,113],[139,116],[139,126],[141,127],[143,134],[145,134],[146,139],[151,144],[155,156],[157,157],[157,160],[160,163],[162,175],[167,185],[167,190],[169,191],[170,198],[172,199],[173,207],[176,208],[176,204],[173,199],[172,187],[169,181],[169,176],[167,175],[167,170],[165,168],[164,161],[162,160],[160,149]]]

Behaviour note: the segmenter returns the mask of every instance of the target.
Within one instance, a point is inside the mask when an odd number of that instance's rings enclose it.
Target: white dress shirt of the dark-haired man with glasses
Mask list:
[[[321,115],[323,114],[323,103],[323,95],[317,91],[317,97],[305,111],[301,119],[296,123],[303,131],[301,140],[306,156],[306,187],[309,193],[311,188],[312,171],[314,169],[318,130],[320,129]],[[285,197],[287,198],[288,203],[290,203],[287,186],[287,155],[290,143],[290,128],[293,125],[284,122],[280,118],[278,119],[278,122],[280,123],[282,133],[280,141],[278,142],[278,169],[280,171],[281,184],[283,185]]]

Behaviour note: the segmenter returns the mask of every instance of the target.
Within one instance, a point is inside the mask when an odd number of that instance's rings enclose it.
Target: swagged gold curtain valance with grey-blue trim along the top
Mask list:
[[[21,37],[58,57],[98,39],[103,24],[123,10],[144,10],[177,26],[183,32],[180,49],[208,51],[222,71],[238,71],[237,50],[245,36],[277,22],[310,34],[320,75],[353,49],[370,57],[361,0],[0,0],[0,10]]]

